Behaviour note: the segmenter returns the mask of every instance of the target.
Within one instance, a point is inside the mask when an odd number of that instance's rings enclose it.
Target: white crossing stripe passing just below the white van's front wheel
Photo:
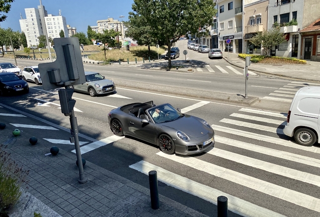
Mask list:
[[[224,133],[229,133],[229,134],[242,136],[242,137],[246,137],[246,138],[250,138],[250,139],[255,139],[255,140],[259,140],[259,141],[264,141],[264,142],[268,142],[268,143],[274,143],[277,145],[300,149],[300,150],[304,150],[304,151],[308,151],[308,152],[320,153],[320,149],[317,147],[301,146],[301,145],[298,145],[296,143],[293,143],[291,141],[287,141],[284,139],[269,137],[269,136],[265,136],[265,135],[261,135],[261,134],[255,134],[255,133],[251,133],[251,132],[247,132],[247,131],[241,131],[241,130],[222,127],[222,126],[218,126],[218,125],[211,125],[211,127],[213,128],[214,131],[221,131]]]

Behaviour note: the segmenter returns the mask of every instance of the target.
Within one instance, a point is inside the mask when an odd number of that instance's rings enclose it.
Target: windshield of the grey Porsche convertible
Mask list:
[[[156,124],[175,121],[184,116],[171,104],[154,106],[148,110],[148,113]]]

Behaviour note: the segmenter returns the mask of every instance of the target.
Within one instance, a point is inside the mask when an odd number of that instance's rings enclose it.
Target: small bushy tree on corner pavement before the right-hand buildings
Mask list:
[[[284,42],[285,36],[280,31],[280,27],[272,28],[271,30],[263,29],[262,32],[258,32],[256,36],[251,39],[251,42],[256,46],[261,46],[265,52],[265,56],[269,56],[272,47]]]

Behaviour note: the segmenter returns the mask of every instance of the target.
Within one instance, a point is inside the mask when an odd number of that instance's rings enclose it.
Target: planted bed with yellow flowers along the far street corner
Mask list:
[[[293,57],[277,57],[277,56],[261,56],[253,54],[238,54],[238,57],[246,59],[247,56],[251,56],[251,62],[264,63],[264,64],[307,64],[305,60],[296,59]]]

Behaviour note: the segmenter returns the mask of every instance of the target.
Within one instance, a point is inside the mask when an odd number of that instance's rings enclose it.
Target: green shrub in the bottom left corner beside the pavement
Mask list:
[[[20,187],[26,180],[29,170],[24,170],[0,146],[0,216],[7,214],[21,196]]]

